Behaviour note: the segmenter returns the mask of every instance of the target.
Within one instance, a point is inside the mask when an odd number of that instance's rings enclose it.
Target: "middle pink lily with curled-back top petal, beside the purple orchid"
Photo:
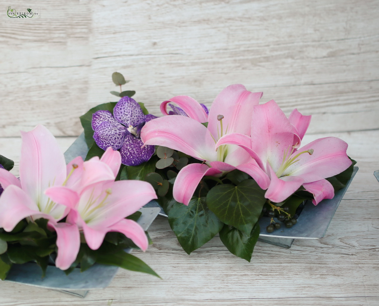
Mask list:
[[[161,104],[164,115],[168,115],[167,104],[173,102],[188,117],[164,116],[147,122],[141,130],[144,145],[162,145],[204,161],[180,170],[173,189],[176,201],[188,205],[203,176],[221,176],[234,169],[260,173],[259,178],[256,175],[258,184],[268,186],[268,175],[246,151],[236,145],[216,147],[218,139],[229,133],[250,136],[251,114],[261,97],[262,92],[249,92],[241,84],[230,85],[215,98],[208,116],[191,97],[177,96]],[[207,127],[204,122],[208,122]]]

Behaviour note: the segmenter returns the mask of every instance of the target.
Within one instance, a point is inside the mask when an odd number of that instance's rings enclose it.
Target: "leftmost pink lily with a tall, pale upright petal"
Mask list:
[[[57,233],[58,257],[64,258],[69,250],[60,247],[62,240],[80,241],[80,236],[75,226],[58,223],[70,209],[49,198],[45,190],[52,186],[82,190],[99,181],[113,181],[117,175],[113,150],[105,152],[100,160],[91,159],[83,163],[81,158],[76,158],[66,166],[64,155],[47,128],[37,125],[32,131],[22,132],[21,135],[20,180],[5,169],[0,169],[0,184],[4,188],[0,197],[0,228],[12,231],[24,218],[31,222],[45,218]],[[118,167],[120,164],[121,159]],[[68,256],[71,254],[68,253]],[[59,263],[57,266],[64,268]]]

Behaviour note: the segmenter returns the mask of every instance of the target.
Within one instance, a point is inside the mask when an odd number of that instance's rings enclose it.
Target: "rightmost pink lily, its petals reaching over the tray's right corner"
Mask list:
[[[325,178],[337,175],[351,165],[346,155],[348,144],[335,137],[320,138],[299,148],[310,122],[296,109],[287,119],[274,100],[254,106],[251,137],[229,134],[217,145],[243,147],[270,178],[265,197],[279,203],[299,187],[314,195],[313,204],[334,197],[332,184]],[[261,173],[249,173],[254,179]],[[265,189],[265,188],[263,188]]]

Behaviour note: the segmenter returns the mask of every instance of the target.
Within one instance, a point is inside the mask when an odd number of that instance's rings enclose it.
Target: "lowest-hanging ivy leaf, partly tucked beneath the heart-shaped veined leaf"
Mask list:
[[[220,231],[220,239],[230,253],[250,262],[254,246],[258,241],[259,232],[258,222],[255,223],[249,235],[246,235],[235,227],[224,225]]]

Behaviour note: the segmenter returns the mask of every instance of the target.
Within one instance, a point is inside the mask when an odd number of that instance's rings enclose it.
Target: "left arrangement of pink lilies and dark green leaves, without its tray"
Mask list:
[[[115,181],[119,151],[107,148],[101,158],[77,157],[66,165],[47,128],[22,132],[20,178],[0,163],[0,278],[13,264],[34,261],[45,275],[52,262],[66,274],[94,263],[157,275],[125,252],[146,250],[149,239],[136,222],[138,209],[157,198],[144,181]]]

